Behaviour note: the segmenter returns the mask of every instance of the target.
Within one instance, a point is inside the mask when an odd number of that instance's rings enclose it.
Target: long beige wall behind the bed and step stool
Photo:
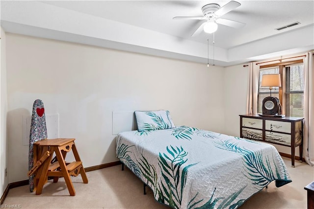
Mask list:
[[[168,109],[176,125],[224,132],[224,68],[6,34],[9,182],[27,179],[22,118],[59,114],[85,167],[116,161],[112,111]],[[48,136],[49,137],[49,136]]]

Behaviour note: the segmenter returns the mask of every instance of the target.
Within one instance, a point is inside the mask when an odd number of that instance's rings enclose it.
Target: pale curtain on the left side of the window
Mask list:
[[[247,88],[246,114],[257,114],[257,95],[259,91],[260,66],[249,63],[249,80]]]

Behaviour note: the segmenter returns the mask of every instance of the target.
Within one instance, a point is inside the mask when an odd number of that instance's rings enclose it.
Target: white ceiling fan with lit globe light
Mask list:
[[[204,23],[194,31],[191,36],[197,35],[204,29],[207,33],[213,33],[217,30],[218,24],[240,28],[245,26],[245,23],[240,23],[234,20],[220,18],[224,14],[234,10],[241,4],[237,1],[229,1],[224,6],[220,7],[217,3],[209,3],[202,7],[204,17],[174,17],[174,20],[202,20]]]

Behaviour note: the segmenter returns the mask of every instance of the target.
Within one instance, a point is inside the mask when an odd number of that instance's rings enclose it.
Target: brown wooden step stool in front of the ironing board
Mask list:
[[[71,196],[75,196],[75,189],[70,176],[81,175],[83,183],[88,183],[87,176],[78,156],[74,138],[44,139],[34,143],[34,163],[36,164],[28,172],[28,176],[35,174],[34,190],[41,194],[48,177],[53,177],[53,183],[57,183],[59,177],[63,177]],[[72,150],[76,161],[67,163],[64,159]],[[55,153],[56,160],[52,162]]]

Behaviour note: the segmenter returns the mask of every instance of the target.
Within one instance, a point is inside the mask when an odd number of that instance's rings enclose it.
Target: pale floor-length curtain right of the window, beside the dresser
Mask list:
[[[303,153],[305,161],[314,166],[314,63],[313,52],[308,52],[304,63],[304,126]]]

